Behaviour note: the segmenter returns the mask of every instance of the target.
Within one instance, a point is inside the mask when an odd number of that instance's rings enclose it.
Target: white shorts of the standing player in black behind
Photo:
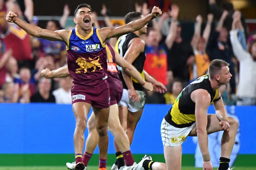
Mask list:
[[[140,90],[136,90],[136,92],[138,93],[140,100],[139,102],[137,101],[132,102],[132,99],[129,98],[128,90],[123,89],[123,95],[122,95],[121,101],[118,103],[118,106],[125,106],[132,113],[143,109],[145,106],[145,100],[146,100],[145,92]]]

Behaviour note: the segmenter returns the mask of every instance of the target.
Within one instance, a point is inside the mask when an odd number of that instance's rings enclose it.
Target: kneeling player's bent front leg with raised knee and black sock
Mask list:
[[[221,126],[219,125],[219,119],[215,114],[208,114],[207,119],[208,119],[208,124],[207,124],[208,134],[220,131]],[[236,139],[236,132],[238,129],[238,122],[235,118],[228,117],[228,122],[230,124],[230,129],[229,131],[223,132],[222,140],[221,140],[221,158],[220,158],[220,162],[226,162],[226,163],[223,163],[223,164],[220,163],[219,170],[221,169],[227,170],[229,167],[228,163],[230,161],[230,155],[233,150],[233,146]],[[190,135],[191,136],[196,135],[196,128],[194,128],[191,131]],[[225,166],[224,168],[222,168],[223,165]]]

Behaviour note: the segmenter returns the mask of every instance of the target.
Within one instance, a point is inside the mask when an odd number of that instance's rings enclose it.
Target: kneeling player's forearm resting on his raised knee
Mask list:
[[[218,94],[217,98],[219,97],[220,97],[220,93]],[[213,102],[213,105],[216,111],[216,116],[220,121],[219,122],[219,125],[221,126],[220,130],[228,131],[230,128],[230,124],[228,122],[227,111],[225,109],[222,98],[220,98],[218,101]]]

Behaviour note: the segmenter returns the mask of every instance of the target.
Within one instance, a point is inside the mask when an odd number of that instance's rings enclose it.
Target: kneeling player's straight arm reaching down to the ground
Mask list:
[[[191,93],[191,99],[195,102],[196,133],[198,144],[203,156],[203,169],[212,170],[211,158],[208,149],[207,136],[207,110],[211,102],[211,96],[205,89],[197,89]]]

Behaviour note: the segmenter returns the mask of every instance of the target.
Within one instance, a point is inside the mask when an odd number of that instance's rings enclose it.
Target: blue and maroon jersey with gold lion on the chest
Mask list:
[[[99,36],[99,30],[92,27],[91,33],[81,36],[74,28],[67,41],[67,65],[74,85],[96,87],[106,83],[107,51]]]

